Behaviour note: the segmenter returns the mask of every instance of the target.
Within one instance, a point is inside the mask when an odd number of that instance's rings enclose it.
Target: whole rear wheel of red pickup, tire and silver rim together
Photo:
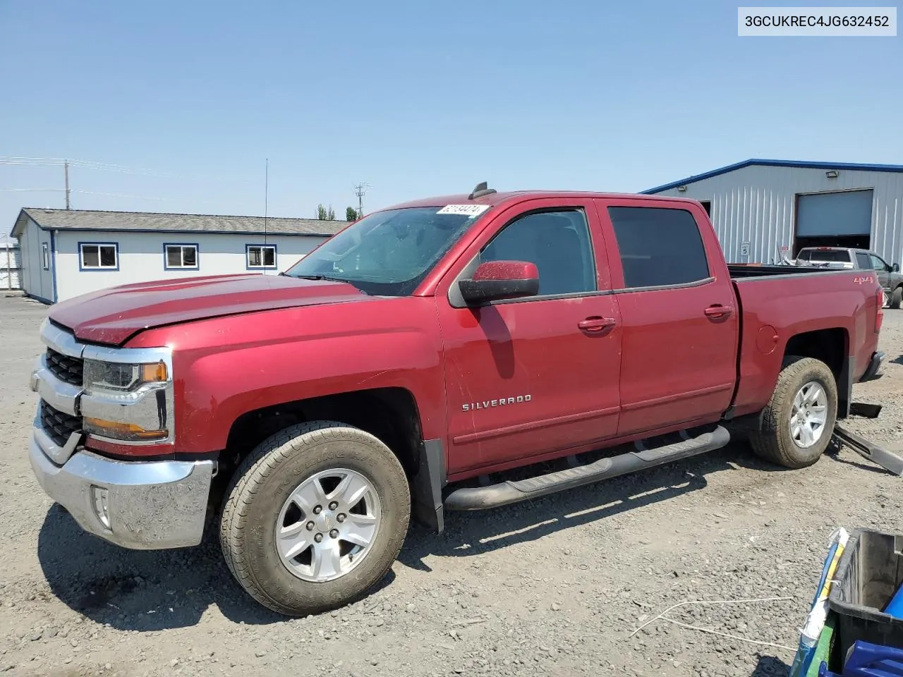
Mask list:
[[[831,369],[813,357],[787,357],[749,442],[762,459],[805,468],[827,449],[836,420],[837,384]]]

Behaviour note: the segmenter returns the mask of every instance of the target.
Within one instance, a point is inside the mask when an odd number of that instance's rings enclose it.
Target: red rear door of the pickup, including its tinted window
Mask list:
[[[619,435],[717,421],[736,380],[739,311],[712,227],[693,203],[597,206],[623,326]]]

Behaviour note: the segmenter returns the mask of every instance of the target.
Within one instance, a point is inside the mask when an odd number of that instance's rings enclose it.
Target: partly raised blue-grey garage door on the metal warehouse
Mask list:
[[[796,203],[796,236],[871,234],[871,190],[800,195]]]

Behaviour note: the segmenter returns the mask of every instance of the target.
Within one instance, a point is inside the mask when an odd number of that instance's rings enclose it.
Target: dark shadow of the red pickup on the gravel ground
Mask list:
[[[707,486],[706,474],[738,465],[778,469],[753,458],[748,448],[731,445],[531,502],[446,514],[446,531],[441,536],[414,526],[399,560],[413,569],[429,571],[424,563],[428,555],[468,557],[539,539],[698,491]],[[763,481],[766,478],[763,473]],[[54,505],[38,537],[38,559],[54,595],[79,613],[117,629],[147,632],[192,626],[214,605],[236,623],[264,625],[285,620],[260,607],[238,587],[222,560],[212,525],[197,548],[131,551],[83,532],[70,515]],[[390,571],[377,589],[391,585],[393,578]]]

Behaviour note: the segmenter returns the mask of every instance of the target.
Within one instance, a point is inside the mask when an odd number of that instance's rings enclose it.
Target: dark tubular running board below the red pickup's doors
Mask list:
[[[538,498],[557,491],[582,487],[601,479],[617,478],[638,470],[687,459],[706,451],[721,449],[731,441],[731,433],[720,425],[714,430],[703,432],[698,437],[682,434],[684,440],[674,444],[647,449],[643,442],[636,442],[636,451],[599,459],[576,468],[566,468],[547,475],[517,481],[499,482],[488,487],[461,487],[445,497],[446,510],[485,510],[509,505],[528,498]]]

